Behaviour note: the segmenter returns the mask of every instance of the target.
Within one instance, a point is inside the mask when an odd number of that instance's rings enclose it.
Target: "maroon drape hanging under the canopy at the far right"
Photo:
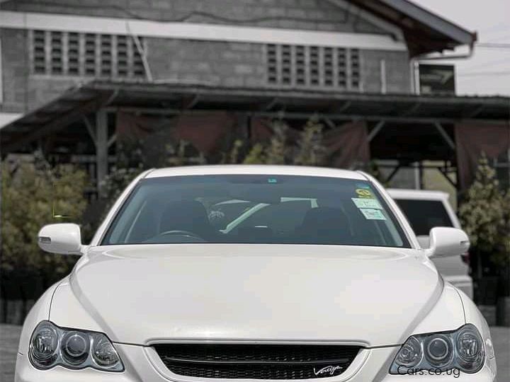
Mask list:
[[[482,153],[494,159],[505,156],[510,150],[510,124],[457,123],[455,141],[460,187],[465,189],[475,179],[477,162]]]

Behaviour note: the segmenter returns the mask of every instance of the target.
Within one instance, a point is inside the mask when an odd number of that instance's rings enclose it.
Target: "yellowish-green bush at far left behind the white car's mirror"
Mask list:
[[[73,166],[51,169],[40,162],[1,166],[1,272],[35,272],[47,282],[63,277],[76,259],[43,253],[37,234],[45,224],[81,221],[86,173]]]

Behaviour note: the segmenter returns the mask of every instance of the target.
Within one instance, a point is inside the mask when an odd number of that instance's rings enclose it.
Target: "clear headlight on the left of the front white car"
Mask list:
[[[115,347],[103,333],[63,329],[50,321],[42,321],[35,328],[28,358],[38,369],[60,365],[68,369],[124,370]]]

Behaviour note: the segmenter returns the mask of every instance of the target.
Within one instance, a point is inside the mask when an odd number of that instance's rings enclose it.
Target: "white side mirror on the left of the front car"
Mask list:
[[[50,253],[81,255],[81,232],[77,224],[48,224],[38,233],[39,247]]]

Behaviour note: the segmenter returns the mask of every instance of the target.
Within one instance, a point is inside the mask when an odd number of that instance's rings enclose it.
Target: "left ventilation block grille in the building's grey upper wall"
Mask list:
[[[96,33],[31,30],[30,62],[33,74],[142,78],[140,44],[133,37]]]

